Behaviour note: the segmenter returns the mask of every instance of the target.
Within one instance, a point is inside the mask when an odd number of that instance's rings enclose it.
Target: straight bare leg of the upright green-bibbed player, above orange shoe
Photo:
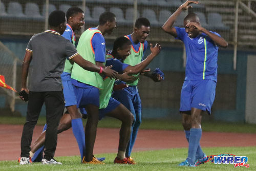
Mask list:
[[[99,121],[99,107],[93,104],[88,104],[86,105],[86,111],[88,113],[88,118],[84,130],[86,134],[86,150],[84,152],[84,157],[86,162],[90,162],[93,160],[93,148]]]

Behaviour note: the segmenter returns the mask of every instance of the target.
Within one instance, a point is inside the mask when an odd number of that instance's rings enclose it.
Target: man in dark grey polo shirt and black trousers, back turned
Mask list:
[[[32,36],[23,61],[22,91],[29,93],[29,102],[20,143],[22,152],[19,164],[30,164],[31,162],[29,152],[32,134],[43,103],[46,104],[47,129],[45,155],[41,162],[42,164],[61,164],[53,157],[57,145],[57,127],[65,106],[60,74],[63,72],[66,58],[78,63],[83,69],[101,72],[111,78],[116,77],[116,72],[110,67],[103,69],[88,60],[84,60],[71,42],[61,36],[67,24],[65,12],[53,11],[48,20],[51,30]],[[31,69],[33,72],[30,77],[32,81],[29,84],[29,91],[27,76],[32,60]],[[23,96],[20,98],[24,100]]]

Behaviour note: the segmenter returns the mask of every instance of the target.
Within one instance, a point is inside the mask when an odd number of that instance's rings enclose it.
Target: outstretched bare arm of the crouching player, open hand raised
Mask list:
[[[153,48],[152,44],[150,44],[150,50],[151,54],[147,56],[146,59],[138,63],[136,66],[128,66],[126,67],[123,72],[130,71],[130,74],[138,74],[140,73],[150,62],[160,53],[161,51],[161,45],[156,44],[155,47]]]

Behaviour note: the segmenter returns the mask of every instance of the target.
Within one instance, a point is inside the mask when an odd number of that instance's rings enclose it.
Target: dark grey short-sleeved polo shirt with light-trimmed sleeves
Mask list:
[[[59,33],[47,30],[32,36],[26,50],[32,52],[29,90],[61,91],[60,74],[65,59],[78,54],[71,42]]]

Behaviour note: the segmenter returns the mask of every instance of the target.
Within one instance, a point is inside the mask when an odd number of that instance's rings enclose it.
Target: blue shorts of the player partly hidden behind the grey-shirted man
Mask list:
[[[61,75],[63,94],[65,98],[65,107],[76,105],[76,95],[74,92],[73,84],[71,83],[70,73],[63,72]],[[84,108],[80,108],[82,114],[87,114]]]

